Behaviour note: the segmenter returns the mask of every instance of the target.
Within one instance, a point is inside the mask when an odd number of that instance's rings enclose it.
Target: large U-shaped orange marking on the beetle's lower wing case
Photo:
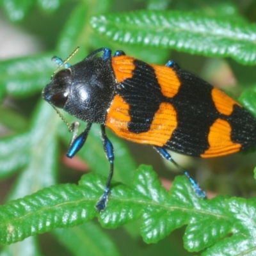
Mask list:
[[[116,95],[108,111],[106,126],[111,128],[121,138],[136,143],[163,147],[177,127],[175,109],[170,103],[166,102],[161,103],[159,106],[149,131],[138,134],[130,132],[128,129],[130,121],[129,104],[120,95]]]

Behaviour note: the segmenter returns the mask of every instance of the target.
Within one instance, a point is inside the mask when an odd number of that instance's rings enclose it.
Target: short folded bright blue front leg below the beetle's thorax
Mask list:
[[[88,123],[86,129],[79,136],[76,138],[73,136],[70,147],[68,148],[67,157],[74,157],[76,153],[81,149],[81,147],[83,147],[91,127],[92,124]],[[76,134],[76,132],[77,130],[75,129],[74,134]]]

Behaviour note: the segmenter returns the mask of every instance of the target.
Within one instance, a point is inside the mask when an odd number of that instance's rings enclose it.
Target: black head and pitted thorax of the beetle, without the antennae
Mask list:
[[[42,95],[80,120],[104,124],[115,88],[111,60],[85,58],[57,72]]]

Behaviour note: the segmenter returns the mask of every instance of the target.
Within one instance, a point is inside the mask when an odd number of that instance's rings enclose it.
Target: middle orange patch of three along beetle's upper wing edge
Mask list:
[[[174,97],[180,88],[180,80],[176,72],[166,66],[151,65],[157,77],[157,81],[161,87],[161,92],[165,97]]]

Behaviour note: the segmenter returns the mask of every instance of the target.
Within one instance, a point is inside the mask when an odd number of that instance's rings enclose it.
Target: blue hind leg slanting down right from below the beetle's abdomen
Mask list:
[[[156,151],[165,159],[171,161],[179,170],[181,170],[184,175],[188,178],[189,182],[191,183],[191,186],[193,187],[193,189],[195,190],[195,193],[198,197],[202,197],[202,198],[206,198],[205,192],[204,190],[202,190],[202,188],[200,188],[200,186],[198,185],[198,183],[189,175],[188,171],[184,170],[183,168],[181,168],[179,166],[179,164],[177,164],[173,159],[172,156],[164,149],[161,147],[154,147],[156,149]]]

